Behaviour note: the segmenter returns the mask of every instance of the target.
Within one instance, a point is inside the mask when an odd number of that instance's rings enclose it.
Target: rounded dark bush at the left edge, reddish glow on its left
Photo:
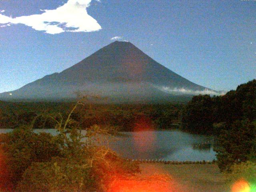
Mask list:
[[[0,134],[0,148],[4,156],[0,166],[4,165],[6,170],[5,175],[2,175],[5,179],[0,180],[0,186],[4,188],[15,186],[32,162],[48,162],[60,155],[59,143],[54,136],[36,134],[28,128]]]

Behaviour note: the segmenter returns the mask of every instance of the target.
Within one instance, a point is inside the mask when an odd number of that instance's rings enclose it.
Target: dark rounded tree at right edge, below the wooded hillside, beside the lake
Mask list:
[[[221,171],[256,156],[256,127],[249,120],[236,121],[218,136],[214,150]]]

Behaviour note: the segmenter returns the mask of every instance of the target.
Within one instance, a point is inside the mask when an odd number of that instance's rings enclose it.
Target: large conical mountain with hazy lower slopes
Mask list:
[[[132,43],[115,41],[60,73],[0,94],[0,99],[74,98],[78,90],[124,102],[173,94],[214,93],[162,66]]]

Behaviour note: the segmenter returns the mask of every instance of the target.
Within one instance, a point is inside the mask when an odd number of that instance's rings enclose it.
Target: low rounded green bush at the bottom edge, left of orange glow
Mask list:
[[[17,192],[96,191],[91,168],[68,158],[32,163],[22,175]]]

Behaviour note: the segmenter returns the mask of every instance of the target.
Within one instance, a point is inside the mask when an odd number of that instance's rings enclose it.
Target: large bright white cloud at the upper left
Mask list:
[[[0,24],[25,24],[48,34],[98,31],[101,26],[86,11],[91,1],[68,0],[67,3],[55,10],[41,10],[44,13],[16,18],[0,14]]]

